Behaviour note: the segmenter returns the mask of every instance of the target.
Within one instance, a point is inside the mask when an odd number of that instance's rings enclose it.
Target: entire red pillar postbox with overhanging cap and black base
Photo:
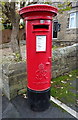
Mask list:
[[[37,4],[19,13],[26,23],[28,101],[32,110],[43,111],[50,105],[52,17],[57,8]]]

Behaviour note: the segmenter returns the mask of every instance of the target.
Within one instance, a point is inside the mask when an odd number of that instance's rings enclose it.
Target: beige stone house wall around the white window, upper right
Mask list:
[[[61,29],[58,31],[57,39],[53,39],[54,45],[72,45],[74,43],[78,43],[78,27],[77,27],[77,20],[76,28],[69,28],[70,24],[70,14],[78,12],[78,2],[72,2],[72,9],[70,11],[64,11],[63,13],[57,15],[55,19],[58,20],[58,23],[61,24]],[[76,15],[76,17],[78,17]]]

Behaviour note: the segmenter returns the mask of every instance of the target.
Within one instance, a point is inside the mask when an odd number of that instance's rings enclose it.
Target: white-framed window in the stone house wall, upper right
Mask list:
[[[70,14],[69,28],[78,28],[78,12]]]

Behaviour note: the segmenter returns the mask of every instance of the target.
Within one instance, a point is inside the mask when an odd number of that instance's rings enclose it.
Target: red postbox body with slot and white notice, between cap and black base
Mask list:
[[[50,88],[51,29],[52,21],[41,26],[32,25],[32,30],[27,35],[28,87],[32,90],[41,91]]]

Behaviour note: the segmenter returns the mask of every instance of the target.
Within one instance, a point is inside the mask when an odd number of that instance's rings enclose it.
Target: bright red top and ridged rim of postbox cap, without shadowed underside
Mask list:
[[[22,9],[20,9],[19,14],[22,16],[23,14],[27,13],[33,13],[33,12],[50,12],[53,14],[53,16],[57,15],[58,9],[56,7],[47,5],[47,4],[35,4],[35,5],[29,5]]]

